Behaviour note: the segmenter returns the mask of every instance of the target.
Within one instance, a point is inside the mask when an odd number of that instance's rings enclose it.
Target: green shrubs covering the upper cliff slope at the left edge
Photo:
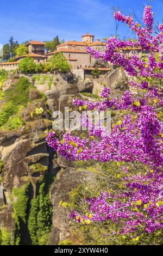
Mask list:
[[[3,105],[0,111],[0,129],[14,130],[24,124],[21,113],[32,100],[42,98],[45,100],[39,90],[37,90],[29,80],[21,76],[16,84],[13,84],[3,93]]]

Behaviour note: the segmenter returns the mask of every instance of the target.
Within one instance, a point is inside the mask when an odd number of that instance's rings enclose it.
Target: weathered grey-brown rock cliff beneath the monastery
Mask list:
[[[0,228],[4,227],[10,233],[10,243],[14,243],[15,227],[17,219],[15,203],[18,203],[18,196],[15,196],[13,189],[22,188],[28,184],[26,212],[24,213],[26,232],[31,236],[29,216],[32,209],[32,200],[37,198],[39,187],[45,173],[55,176],[49,188],[49,196],[53,206],[51,234],[46,244],[57,245],[60,240],[66,239],[70,234],[71,221],[68,212],[59,206],[60,200],[68,200],[68,193],[79,184],[86,184],[94,180],[95,174],[83,170],[77,172],[72,162],[67,162],[54,154],[53,150],[47,147],[45,142],[46,126],[51,129],[51,113],[55,110],[64,111],[65,106],[71,106],[70,96],[81,95],[80,93],[96,93],[102,83],[108,83],[114,89],[114,94],[120,93],[125,84],[122,83],[125,74],[120,70],[112,70],[109,75],[98,79],[86,79],[78,81],[71,74],[48,74],[48,75],[21,75],[34,84],[35,89],[30,90],[30,102],[21,111],[23,125],[15,130],[0,130],[0,185],[3,189],[3,198],[0,199]],[[46,78],[45,78],[46,76]],[[3,92],[14,87],[20,75],[8,76],[3,83]],[[42,93],[46,97],[42,97]],[[45,123],[39,118],[31,118],[30,112],[37,108],[44,109]],[[20,217],[20,215],[18,215]],[[22,217],[21,217],[22,218]],[[23,218],[22,218],[23,219]],[[46,229],[45,229],[46,230]],[[20,230],[19,230],[20,231]],[[20,243],[26,244],[19,233]],[[30,241],[30,239],[29,239]],[[29,242],[28,241],[28,242]],[[29,243],[32,243],[30,241]]]

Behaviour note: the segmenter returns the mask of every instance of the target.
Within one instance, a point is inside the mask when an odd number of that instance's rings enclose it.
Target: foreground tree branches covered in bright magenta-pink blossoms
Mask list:
[[[162,74],[162,56],[160,45],[163,42],[163,24],[159,25],[159,34],[152,34],[153,13],[152,7],[146,6],[143,13],[145,28],[133,17],[125,16],[115,11],[117,21],[125,22],[134,31],[137,41],[121,41],[116,37],[109,38],[105,51],[98,51],[87,47],[89,54],[95,58],[109,61],[121,66],[130,80],[129,87],[121,99],[110,96],[110,88],[105,87],[101,96],[103,101],[91,102],[73,99],[73,104],[79,109],[97,109],[98,111],[120,111],[117,120],[112,123],[111,132],[105,127],[95,129],[95,125],[87,117],[82,119],[89,130],[89,137],[78,137],[70,132],[63,133],[62,139],[55,132],[47,133],[47,143],[61,156],[68,160],[96,160],[116,161],[124,164],[120,193],[115,191],[99,192],[98,196],[86,198],[89,212],[81,214],[70,209],[68,203],[62,203],[70,210],[70,217],[78,223],[85,225],[91,222],[104,222],[111,220],[119,228],[109,231],[109,235],[124,236],[130,234],[133,241],[139,241],[144,234],[161,233],[162,223],[162,88],[160,79]],[[148,59],[139,56],[126,56],[120,51],[123,47],[141,47],[148,52]],[[90,128],[90,129],[89,129]],[[141,172],[130,173],[127,163],[141,164]],[[121,176],[120,175],[120,176]],[[109,181],[108,181],[109,182]]]

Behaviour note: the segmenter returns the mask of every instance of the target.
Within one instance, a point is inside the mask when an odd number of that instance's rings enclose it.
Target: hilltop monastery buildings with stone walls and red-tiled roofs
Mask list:
[[[18,69],[18,62],[20,62],[20,60],[26,58],[27,56],[33,58],[36,64],[46,64],[46,61],[48,61],[49,58],[54,56],[54,54],[62,52],[62,54],[67,59],[68,63],[70,63],[73,70],[84,69],[85,72],[90,72],[90,68],[95,66],[96,60],[87,53],[87,51],[85,50],[86,46],[91,46],[101,51],[104,51],[105,47],[104,42],[101,42],[99,39],[96,39],[94,41],[94,38],[94,35],[87,33],[85,35],[82,35],[81,41],[64,42],[63,44],[57,46],[56,51],[48,53],[45,53],[44,42],[30,41],[26,45],[28,47],[28,54],[24,54],[20,57],[17,57],[16,62],[0,63],[0,69]],[[127,56],[136,54],[139,57],[142,57],[143,54],[145,54],[145,52],[143,52],[140,47],[122,48],[118,49],[118,51],[127,54]],[[98,65],[98,68],[104,68],[104,66]],[[107,65],[105,65],[105,68],[107,68]]]

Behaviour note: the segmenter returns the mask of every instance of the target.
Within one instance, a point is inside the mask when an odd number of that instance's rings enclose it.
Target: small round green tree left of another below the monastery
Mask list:
[[[25,73],[33,73],[36,69],[36,63],[33,58],[28,56],[20,61],[18,68]]]

